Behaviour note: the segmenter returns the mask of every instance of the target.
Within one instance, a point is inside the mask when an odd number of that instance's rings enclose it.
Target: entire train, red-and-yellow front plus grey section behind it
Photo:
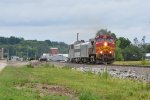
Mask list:
[[[111,35],[99,35],[88,42],[76,41],[69,45],[69,61],[76,63],[112,63],[115,41]]]

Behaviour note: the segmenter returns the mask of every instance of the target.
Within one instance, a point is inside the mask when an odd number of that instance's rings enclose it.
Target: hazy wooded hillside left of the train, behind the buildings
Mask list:
[[[43,53],[49,53],[51,47],[56,47],[59,53],[67,53],[68,44],[56,41],[24,40],[11,36],[0,37],[0,48],[4,48],[4,57],[19,56],[24,59],[39,58]]]

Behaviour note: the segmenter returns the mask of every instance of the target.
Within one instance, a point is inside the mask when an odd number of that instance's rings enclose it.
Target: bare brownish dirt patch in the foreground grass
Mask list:
[[[77,100],[77,92],[69,89],[68,87],[59,85],[46,85],[46,84],[31,84],[26,83],[24,85],[17,85],[17,89],[32,88],[33,90],[39,91],[39,96],[44,97],[46,95],[59,95],[67,96],[70,100]]]

